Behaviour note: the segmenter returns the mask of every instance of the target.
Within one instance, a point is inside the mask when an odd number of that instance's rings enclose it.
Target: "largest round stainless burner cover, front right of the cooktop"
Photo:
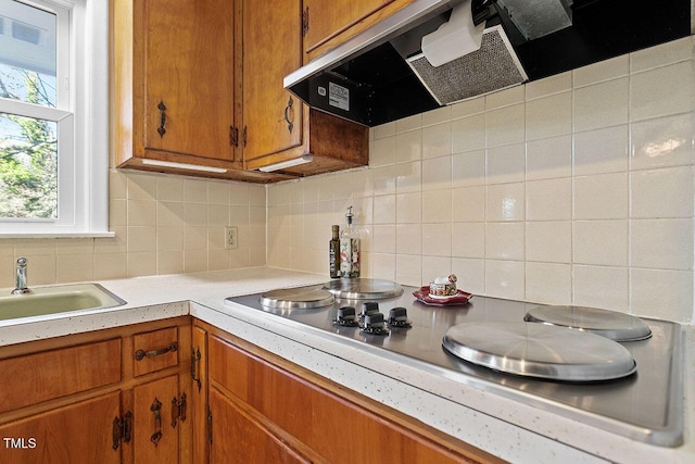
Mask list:
[[[442,344],[473,364],[551,380],[611,380],[637,368],[623,346],[605,337],[526,322],[458,324]]]

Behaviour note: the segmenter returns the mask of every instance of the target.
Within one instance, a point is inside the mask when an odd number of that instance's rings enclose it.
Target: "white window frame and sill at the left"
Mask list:
[[[0,238],[114,237],[109,231],[109,2],[18,1],[56,13],[58,104],[0,98],[0,112],[58,123],[59,218],[0,218]]]

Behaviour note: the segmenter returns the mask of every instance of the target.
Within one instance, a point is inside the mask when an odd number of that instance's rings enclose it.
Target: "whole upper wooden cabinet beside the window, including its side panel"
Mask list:
[[[241,76],[235,64],[240,21],[240,3],[233,0],[112,0],[116,166],[278,179],[242,172],[236,105]],[[192,167],[162,167],[162,162]]]

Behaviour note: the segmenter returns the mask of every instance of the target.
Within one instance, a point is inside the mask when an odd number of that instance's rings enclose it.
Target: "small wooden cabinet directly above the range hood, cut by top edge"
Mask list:
[[[414,0],[304,0],[304,52],[324,54]]]

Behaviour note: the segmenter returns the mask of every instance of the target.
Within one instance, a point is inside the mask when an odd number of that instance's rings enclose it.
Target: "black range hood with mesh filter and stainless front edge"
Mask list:
[[[430,64],[422,38],[464,9],[479,46]],[[414,0],[288,75],[285,87],[371,127],[686,37],[691,10],[691,0]]]

